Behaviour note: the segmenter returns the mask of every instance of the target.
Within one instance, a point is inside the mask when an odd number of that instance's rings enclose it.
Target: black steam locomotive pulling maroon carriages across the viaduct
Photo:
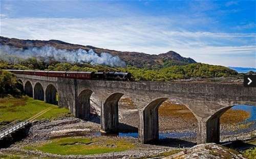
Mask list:
[[[83,80],[112,80],[132,81],[129,72],[75,72],[75,71],[33,71],[33,70],[6,70],[14,74],[28,74],[49,77],[76,78]]]

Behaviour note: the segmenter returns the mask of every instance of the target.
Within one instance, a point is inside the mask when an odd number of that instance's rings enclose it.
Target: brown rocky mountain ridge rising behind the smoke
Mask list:
[[[133,65],[136,67],[153,67],[153,66],[163,66],[167,63],[173,63],[174,65],[185,65],[190,63],[196,63],[195,60],[191,58],[184,58],[180,56],[175,51],[168,51],[159,55],[149,55],[143,52],[130,52],[130,51],[116,51],[111,49],[98,48],[94,46],[84,46],[78,44],[71,44],[59,40],[23,40],[15,38],[6,38],[0,36],[0,45],[8,45],[10,47],[27,49],[31,47],[43,47],[43,46],[52,46],[56,49],[67,49],[67,50],[77,50],[84,49],[90,50],[93,49],[97,54],[101,52],[107,52],[112,56],[118,56],[122,61],[127,65]]]

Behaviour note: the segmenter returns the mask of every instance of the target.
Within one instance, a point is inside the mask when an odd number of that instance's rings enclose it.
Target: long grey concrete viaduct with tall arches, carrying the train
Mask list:
[[[90,116],[90,97],[101,105],[101,129],[117,131],[118,101],[131,97],[139,112],[139,140],[159,139],[158,108],[166,99],[184,104],[197,118],[197,144],[220,141],[220,116],[236,104],[256,105],[256,88],[240,83],[121,82],[16,74],[34,99],[67,107],[77,118]],[[58,92],[58,101],[56,100]]]

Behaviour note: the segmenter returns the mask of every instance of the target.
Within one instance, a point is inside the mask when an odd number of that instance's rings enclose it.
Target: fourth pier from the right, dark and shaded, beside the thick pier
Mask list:
[[[83,90],[77,99],[76,105],[76,117],[80,119],[89,119],[90,118],[90,97],[92,95],[92,90]]]

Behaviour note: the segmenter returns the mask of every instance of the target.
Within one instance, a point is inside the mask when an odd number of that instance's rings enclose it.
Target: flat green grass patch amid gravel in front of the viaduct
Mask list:
[[[30,145],[27,150],[39,150],[52,154],[99,154],[119,152],[134,148],[135,145],[127,139],[120,138],[60,138],[49,140],[47,143]]]

